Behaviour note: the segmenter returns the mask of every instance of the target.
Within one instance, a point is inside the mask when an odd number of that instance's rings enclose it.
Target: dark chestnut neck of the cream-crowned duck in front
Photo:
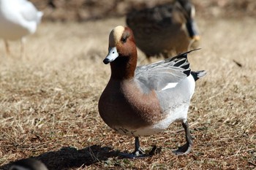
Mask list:
[[[115,61],[110,63],[111,79],[128,80],[135,76],[137,65],[137,53],[134,56],[118,56]]]

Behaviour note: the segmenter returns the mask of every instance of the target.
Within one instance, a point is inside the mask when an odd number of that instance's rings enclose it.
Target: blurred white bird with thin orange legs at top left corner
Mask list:
[[[10,49],[7,40],[21,40],[21,54],[24,51],[24,37],[34,34],[43,13],[27,0],[0,0],[0,38],[4,39],[7,54]]]

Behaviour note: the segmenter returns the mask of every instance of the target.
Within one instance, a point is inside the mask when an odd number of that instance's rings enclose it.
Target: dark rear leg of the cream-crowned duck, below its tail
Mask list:
[[[178,150],[173,151],[176,155],[188,154],[192,148],[192,136],[189,131],[189,123],[187,123],[187,120],[182,123],[182,126],[185,130],[186,144],[184,144],[182,147],[178,147]]]

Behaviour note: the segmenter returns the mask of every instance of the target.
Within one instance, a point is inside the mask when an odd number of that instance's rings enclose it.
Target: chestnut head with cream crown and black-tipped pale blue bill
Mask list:
[[[137,61],[137,49],[132,30],[128,27],[116,26],[110,32],[108,55],[103,62],[107,64],[117,60],[125,62],[131,59]]]

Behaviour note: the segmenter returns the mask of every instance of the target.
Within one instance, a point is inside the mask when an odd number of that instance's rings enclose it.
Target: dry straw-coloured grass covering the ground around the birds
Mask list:
[[[208,74],[189,109],[193,150],[172,154],[184,143],[177,123],[142,137],[143,147],[157,144],[162,152],[138,160],[118,158],[134,139],[113,133],[97,111],[110,77],[102,63],[108,34],[119,24],[124,18],[42,23],[26,42],[26,57],[17,42],[9,57],[0,47],[0,169],[29,157],[49,169],[256,169],[255,19],[199,19],[203,50],[189,59]]]

